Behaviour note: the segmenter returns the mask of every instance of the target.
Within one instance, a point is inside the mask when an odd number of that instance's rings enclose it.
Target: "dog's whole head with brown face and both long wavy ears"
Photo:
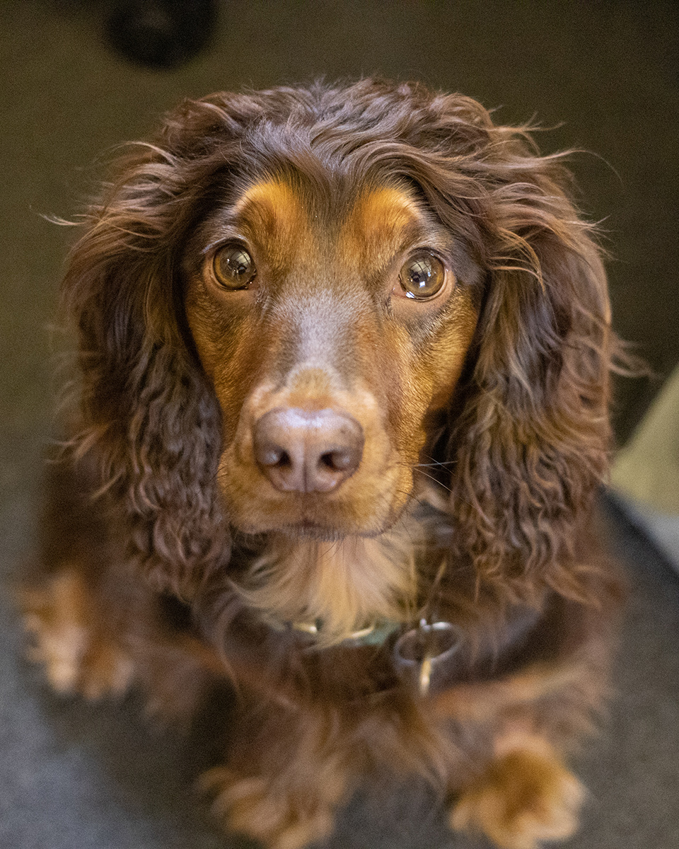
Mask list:
[[[71,257],[84,445],[156,576],[230,528],[384,531],[423,481],[485,576],[556,580],[605,469],[603,268],[554,158],[423,87],[218,94]]]

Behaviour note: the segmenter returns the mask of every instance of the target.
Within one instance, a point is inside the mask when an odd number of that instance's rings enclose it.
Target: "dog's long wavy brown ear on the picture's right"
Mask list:
[[[608,466],[606,277],[558,166],[524,155],[499,170],[485,199],[489,284],[449,440],[452,510],[483,579],[519,599],[549,586],[577,595],[579,531]]]

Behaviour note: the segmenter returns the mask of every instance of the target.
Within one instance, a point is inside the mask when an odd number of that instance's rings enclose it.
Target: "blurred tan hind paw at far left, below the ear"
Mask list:
[[[132,660],[100,633],[87,588],[76,571],[59,572],[46,585],[25,589],[20,604],[31,635],[29,660],[44,666],[59,694],[99,699],[128,689]]]

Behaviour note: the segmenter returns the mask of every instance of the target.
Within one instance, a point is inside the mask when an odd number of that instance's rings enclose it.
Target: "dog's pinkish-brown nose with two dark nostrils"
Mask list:
[[[255,424],[255,460],[281,492],[330,492],[358,468],[363,441],[349,413],[275,408]]]

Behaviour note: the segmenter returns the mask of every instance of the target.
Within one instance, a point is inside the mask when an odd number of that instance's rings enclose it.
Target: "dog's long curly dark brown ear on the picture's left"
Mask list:
[[[184,104],[157,145],[117,163],[63,287],[80,335],[76,453],[96,453],[135,554],[185,597],[228,556],[215,488],[221,417],[182,328],[181,251],[210,192],[224,190],[229,144],[253,107],[245,102],[239,122],[229,105]]]

